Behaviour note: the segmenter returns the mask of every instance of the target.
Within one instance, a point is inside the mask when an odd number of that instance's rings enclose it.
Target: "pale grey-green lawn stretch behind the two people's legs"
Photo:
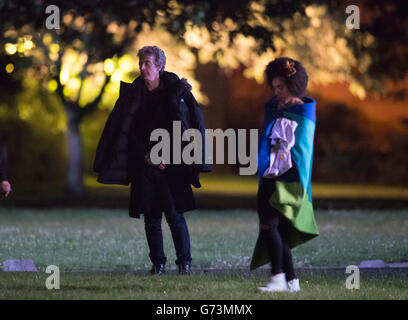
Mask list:
[[[347,266],[362,260],[408,261],[408,211],[321,211],[320,236],[293,250],[296,267]],[[255,211],[185,214],[195,268],[248,268],[257,239]],[[150,268],[142,219],[127,210],[0,207],[0,262],[32,259],[40,270],[132,271]],[[168,268],[176,260],[163,222]]]

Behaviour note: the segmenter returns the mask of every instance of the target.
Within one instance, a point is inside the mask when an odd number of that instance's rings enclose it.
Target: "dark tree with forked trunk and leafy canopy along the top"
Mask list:
[[[248,0],[178,0],[177,2],[164,0],[1,0],[1,43],[15,42],[17,37],[29,34],[35,46],[41,49],[43,59],[38,62],[23,53],[10,55],[5,52],[5,48],[2,46],[0,61],[2,65],[12,62],[19,66],[19,70],[28,66],[37,70],[44,65],[48,68],[48,80],[54,79],[57,84],[56,93],[61,100],[68,121],[67,192],[81,194],[84,187],[79,125],[85,116],[98,109],[110,75],[106,74],[105,81],[95,99],[85,106],[80,105],[80,94],[78,94],[78,99],[74,100],[64,94],[64,83],[61,81],[61,58],[65,50],[74,46],[77,51],[87,55],[87,61],[80,73],[81,91],[84,80],[89,75],[87,66],[125,53],[142,30],[143,23],[153,26],[158,18],[161,18],[166,29],[179,36],[181,41],[187,22],[204,26],[213,37],[217,37],[213,23],[215,21],[222,23],[226,18],[230,18],[237,24],[237,28],[229,34],[230,40],[238,34],[253,36],[259,40],[259,50],[262,51],[267,48],[275,48],[272,36],[274,34],[279,35],[282,29],[279,24],[276,28],[271,29],[249,23],[248,18],[252,14],[251,6],[261,6],[266,17],[279,21],[279,19],[291,18],[295,12],[305,15],[305,8],[311,4],[327,6],[330,15],[337,21],[345,20],[347,5],[357,4],[360,7],[362,17],[364,17],[361,21],[361,29],[370,32],[376,42],[374,46],[365,47],[361,45],[358,33],[356,33],[349,45],[353,48],[356,56],[369,54],[373,61],[367,72],[359,74],[358,70],[355,71],[355,76],[360,77],[367,88],[373,87],[371,79],[385,80],[391,78],[398,80],[405,76],[408,70],[406,60],[408,20],[402,0],[386,2],[362,0],[353,3],[345,0],[308,0],[303,2],[295,0],[259,0],[257,2]],[[61,20],[61,29],[51,32],[52,42],[59,45],[57,55],[43,41],[44,34],[50,32],[45,28],[45,21],[48,17],[45,11],[48,5],[58,6],[62,18],[70,16],[70,19]],[[109,30],[112,23],[125,26],[126,32],[117,37],[114,32]],[[2,67],[2,71],[0,71],[2,96],[4,93],[8,93],[8,96],[16,95],[21,88],[19,80],[24,74],[15,73],[12,77],[4,73],[3,69]],[[399,95],[401,96],[401,93]]]

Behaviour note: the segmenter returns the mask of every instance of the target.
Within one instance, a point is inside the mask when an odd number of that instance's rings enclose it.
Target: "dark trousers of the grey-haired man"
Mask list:
[[[166,264],[161,221],[163,212],[176,249],[176,264],[191,263],[190,235],[183,213],[177,213],[168,183],[168,170],[145,165],[142,170],[142,208],[145,217],[149,257],[154,265]]]

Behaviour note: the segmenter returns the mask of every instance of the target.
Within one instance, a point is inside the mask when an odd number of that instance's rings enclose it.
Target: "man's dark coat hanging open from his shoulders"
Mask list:
[[[194,196],[191,185],[200,188],[200,172],[210,172],[211,164],[204,163],[205,122],[200,105],[190,92],[191,87],[170,72],[162,72],[160,83],[164,87],[164,101],[166,108],[170,108],[172,118],[181,121],[182,132],[189,128],[196,128],[202,135],[202,164],[177,165],[170,171],[170,188],[175,200],[177,212],[195,209]],[[109,115],[102,137],[96,150],[94,171],[98,173],[98,182],[104,184],[129,185],[131,183],[131,199],[129,214],[139,218],[141,210],[140,173],[144,165],[142,152],[138,161],[129,164],[129,130],[134,119],[138,116],[144,84],[138,77],[133,83],[120,83],[119,98]],[[143,146],[132,145],[133,150],[143,150]]]

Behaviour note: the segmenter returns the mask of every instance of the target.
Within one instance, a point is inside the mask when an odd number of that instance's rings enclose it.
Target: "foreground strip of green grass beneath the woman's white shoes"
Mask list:
[[[406,274],[405,274],[406,275]],[[266,274],[165,275],[131,273],[60,274],[60,289],[48,290],[45,273],[2,273],[0,299],[149,299],[149,300],[336,300],[408,299],[407,280],[401,275],[360,277],[360,289],[348,290],[346,275],[300,273],[298,293],[261,293]]]

